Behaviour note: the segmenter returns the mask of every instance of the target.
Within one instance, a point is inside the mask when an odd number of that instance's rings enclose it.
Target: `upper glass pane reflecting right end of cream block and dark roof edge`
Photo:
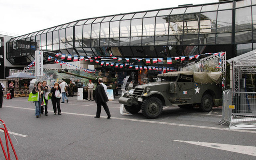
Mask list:
[[[204,12],[200,14],[200,33],[216,32],[217,12]]]

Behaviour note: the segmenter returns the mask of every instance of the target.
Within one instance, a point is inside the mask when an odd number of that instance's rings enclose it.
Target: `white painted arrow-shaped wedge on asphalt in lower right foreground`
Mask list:
[[[226,150],[230,152],[248,154],[250,156],[256,156],[256,147],[254,146],[240,146],[240,145],[231,145],[231,144],[221,144],[221,143],[207,143],[207,142],[193,142],[193,141],[184,141],[184,140],[173,140],[177,142],[185,142],[189,144],[194,144],[198,146],[215,148],[218,150]]]

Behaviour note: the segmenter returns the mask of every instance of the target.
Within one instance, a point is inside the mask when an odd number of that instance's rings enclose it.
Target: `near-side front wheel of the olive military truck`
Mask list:
[[[146,118],[157,118],[163,110],[162,102],[159,98],[146,98],[141,105],[141,111]]]

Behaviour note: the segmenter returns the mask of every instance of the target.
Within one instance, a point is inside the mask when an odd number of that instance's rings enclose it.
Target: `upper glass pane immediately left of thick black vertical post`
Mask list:
[[[232,10],[218,11],[217,32],[232,31]]]

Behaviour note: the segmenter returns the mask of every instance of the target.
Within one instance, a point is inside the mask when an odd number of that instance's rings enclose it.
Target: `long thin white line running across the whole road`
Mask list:
[[[22,107],[14,107],[14,106],[4,106],[4,107],[10,107],[10,108],[19,108],[19,109],[25,109],[25,110],[35,110],[31,108],[22,108]],[[49,111],[48,112],[53,112]],[[62,112],[63,114],[71,114],[71,115],[78,115],[78,116],[89,116],[93,117],[95,115],[91,114],[79,114],[79,113],[70,113],[70,112]],[[101,116],[103,118],[107,118],[106,116]],[[116,120],[129,120],[133,122],[145,122],[145,123],[154,123],[154,124],[166,124],[171,126],[183,126],[183,127],[192,127],[192,128],[204,128],[204,129],[212,129],[212,130],[224,130],[224,131],[233,131],[233,132],[247,132],[247,133],[256,133],[256,131],[251,130],[231,130],[227,128],[217,128],[217,127],[208,127],[208,126],[196,126],[196,125],[190,125],[190,124],[178,124],[178,123],[170,123],[170,122],[158,122],[158,121],[151,121],[151,120],[138,120],[138,119],[130,119],[130,118],[119,118],[119,117],[111,117],[111,119]]]

